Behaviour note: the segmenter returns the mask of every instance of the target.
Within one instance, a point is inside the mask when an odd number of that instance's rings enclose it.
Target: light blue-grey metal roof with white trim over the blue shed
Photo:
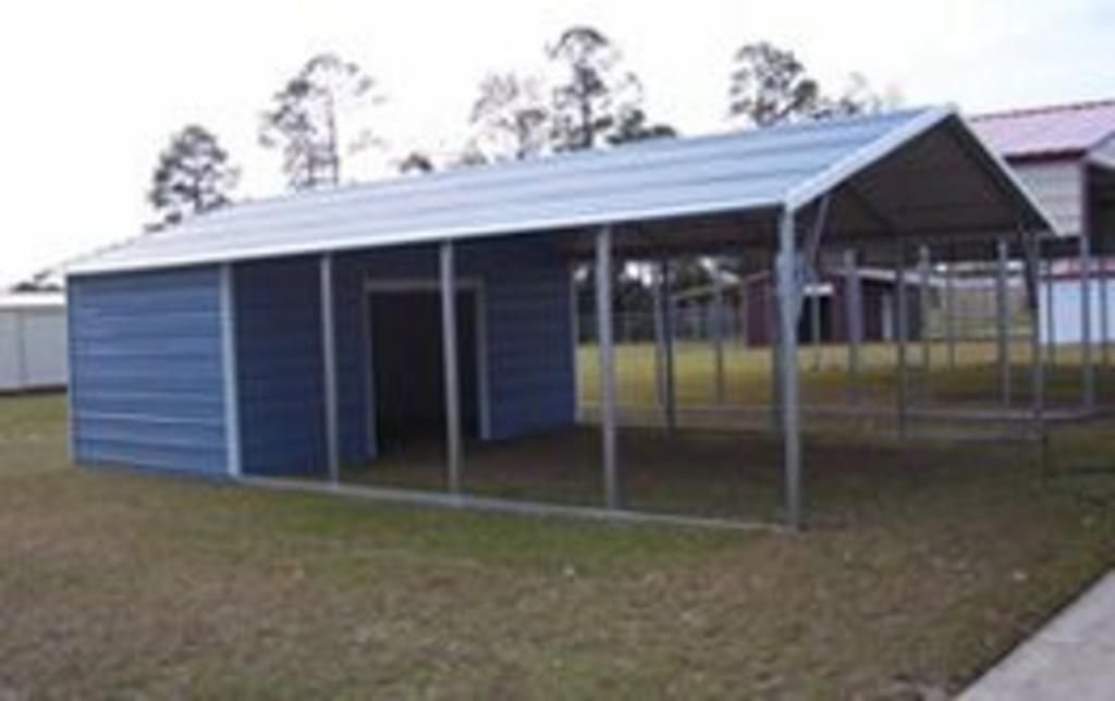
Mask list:
[[[298,193],[226,207],[138,237],[69,272],[796,210],[946,123],[962,124],[952,109],[912,109]],[[1009,191],[1010,206],[1022,202],[1030,221],[1044,223],[1040,210],[1001,162],[979,150],[983,167],[990,164],[995,171],[991,179],[1000,191]]]

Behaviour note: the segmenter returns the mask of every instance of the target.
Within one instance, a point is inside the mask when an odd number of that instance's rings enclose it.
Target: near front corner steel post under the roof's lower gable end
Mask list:
[[[794,213],[785,210],[778,222],[778,329],[782,356],[782,437],[786,479],[786,522],[801,529],[802,513],[802,435],[799,426],[797,319],[801,311],[801,282],[797,274]]]

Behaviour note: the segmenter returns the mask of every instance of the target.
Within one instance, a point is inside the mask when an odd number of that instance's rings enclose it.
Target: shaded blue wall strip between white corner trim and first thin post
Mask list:
[[[317,259],[234,269],[242,469],[322,471],[326,465]]]

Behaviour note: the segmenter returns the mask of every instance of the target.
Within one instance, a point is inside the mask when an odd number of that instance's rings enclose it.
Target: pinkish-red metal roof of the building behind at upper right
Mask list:
[[[1007,158],[1083,154],[1115,137],[1115,99],[992,113],[970,121]]]

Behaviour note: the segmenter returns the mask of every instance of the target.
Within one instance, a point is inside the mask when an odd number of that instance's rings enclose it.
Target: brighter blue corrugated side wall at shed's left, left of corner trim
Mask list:
[[[220,299],[216,267],[69,281],[76,460],[226,474]]]

